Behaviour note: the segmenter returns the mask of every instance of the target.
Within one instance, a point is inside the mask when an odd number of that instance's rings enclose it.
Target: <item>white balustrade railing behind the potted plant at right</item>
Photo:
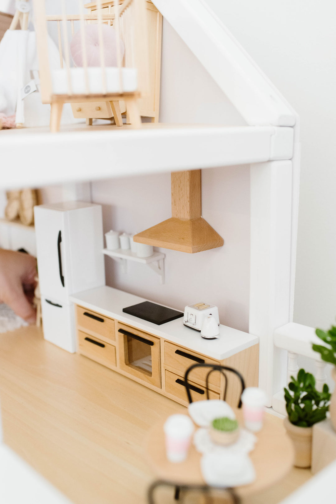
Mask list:
[[[314,360],[316,389],[321,391],[323,384],[327,380],[325,373],[326,362],[321,360],[319,353],[312,350],[312,343],[323,345],[316,334],[315,329],[294,322],[276,329],[274,332],[274,344],[278,348],[287,350],[287,384],[291,381],[291,376],[298,373],[298,357],[300,355]],[[286,414],[283,389],[274,394],[272,407],[281,414]]]

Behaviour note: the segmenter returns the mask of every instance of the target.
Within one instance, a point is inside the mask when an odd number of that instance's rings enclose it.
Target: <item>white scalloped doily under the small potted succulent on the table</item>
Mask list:
[[[193,436],[193,444],[199,453],[249,453],[254,449],[257,438],[252,432],[241,429],[236,443],[222,446],[213,442],[210,437],[209,429],[197,429]]]

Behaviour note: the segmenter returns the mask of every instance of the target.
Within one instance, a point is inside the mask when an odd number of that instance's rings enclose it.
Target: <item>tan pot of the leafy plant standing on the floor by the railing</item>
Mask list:
[[[298,427],[285,418],[287,434],[292,439],[295,451],[294,466],[308,468],[311,466],[312,427]]]

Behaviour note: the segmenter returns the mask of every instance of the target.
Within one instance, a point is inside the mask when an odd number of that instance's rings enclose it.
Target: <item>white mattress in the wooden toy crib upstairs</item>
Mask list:
[[[106,67],[103,71],[100,67],[89,67],[88,81],[89,94],[102,94],[103,82],[102,72],[106,76],[106,93],[131,93],[138,89],[137,69]],[[119,72],[121,72],[122,87],[120,89]],[[84,68],[70,69],[72,89],[69,89],[68,72],[66,69],[51,70],[51,82],[53,94],[69,95],[80,94],[86,95],[85,71]]]

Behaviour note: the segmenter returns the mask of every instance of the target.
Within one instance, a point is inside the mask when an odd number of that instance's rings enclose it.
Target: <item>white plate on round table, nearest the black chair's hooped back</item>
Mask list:
[[[215,418],[227,416],[231,420],[236,419],[231,406],[225,401],[219,399],[210,399],[208,401],[196,401],[188,406],[189,415],[199,427],[209,427]]]

